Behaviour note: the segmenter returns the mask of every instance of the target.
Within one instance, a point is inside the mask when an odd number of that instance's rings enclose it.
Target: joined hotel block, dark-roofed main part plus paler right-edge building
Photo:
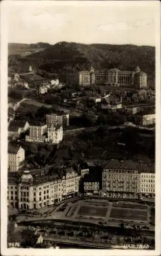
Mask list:
[[[111,198],[155,197],[154,166],[112,159],[103,168],[102,196]]]

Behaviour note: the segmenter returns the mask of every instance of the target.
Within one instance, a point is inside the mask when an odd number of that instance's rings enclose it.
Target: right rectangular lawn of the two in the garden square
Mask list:
[[[147,211],[112,208],[110,218],[147,221]]]

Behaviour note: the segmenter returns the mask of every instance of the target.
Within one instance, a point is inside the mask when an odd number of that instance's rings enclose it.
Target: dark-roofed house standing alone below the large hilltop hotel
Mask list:
[[[117,110],[122,109],[122,98],[108,94],[101,101],[101,109]]]

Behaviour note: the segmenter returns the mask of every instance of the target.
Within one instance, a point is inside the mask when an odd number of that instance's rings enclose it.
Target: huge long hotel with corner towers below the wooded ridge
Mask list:
[[[121,71],[114,68],[105,73],[94,71],[91,67],[90,71],[78,72],[78,84],[82,87],[104,84],[106,86],[142,89],[147,87],[147,74],[141,71],[139,67],[133,71]]]

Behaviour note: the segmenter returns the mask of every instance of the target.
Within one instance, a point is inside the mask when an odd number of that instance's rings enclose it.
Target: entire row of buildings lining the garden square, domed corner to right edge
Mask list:
[[[110,198],[154,198],[154,166],[138,164],[129,160],[112,159],[100,170],[99,175],[90,171],[83,163],[73,167],[63,167],[57,174],[30,173],[24,171],[21,177],[8,175],[8,206],[19,209],[42,208],[55,202],[79,194],[83,181],[85,195]],[[99,177],[101,175],[101,178]]]

